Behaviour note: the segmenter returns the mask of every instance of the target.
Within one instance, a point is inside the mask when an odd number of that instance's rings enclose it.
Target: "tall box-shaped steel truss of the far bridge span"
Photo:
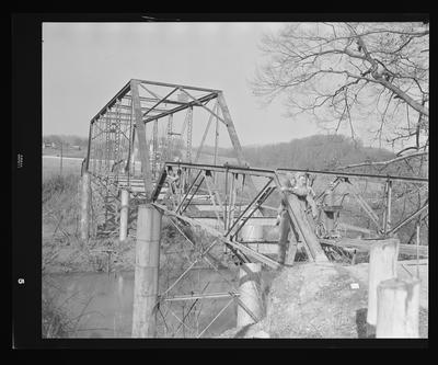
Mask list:
[[[131,197],[150,201],[164,161],[191,162],[196,145],[196,161],[218,161],[220,129],[234,163],[246,166],[220,90],[132,79],[91,119],[82,172],[112,176]]]

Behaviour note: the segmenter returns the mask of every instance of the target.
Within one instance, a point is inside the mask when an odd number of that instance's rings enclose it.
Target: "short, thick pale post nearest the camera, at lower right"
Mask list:
[[[376,338],[418,338],[419,280],[391,278],[378,286]]]

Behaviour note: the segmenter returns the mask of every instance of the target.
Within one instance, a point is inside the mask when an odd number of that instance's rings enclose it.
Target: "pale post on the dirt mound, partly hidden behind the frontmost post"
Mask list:
[[[368,324],[377,323],[377,286],[396,277],[400,241],[396,238],[376,240],[371,243],[368,267]]]

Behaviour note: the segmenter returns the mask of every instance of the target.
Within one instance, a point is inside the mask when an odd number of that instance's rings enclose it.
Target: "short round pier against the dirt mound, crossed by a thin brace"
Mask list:
[[[240,269],[239,301],[242,305],[238,306],[238,327],[256,323],[263,317],[261,271],[261,263],[243,263]]]

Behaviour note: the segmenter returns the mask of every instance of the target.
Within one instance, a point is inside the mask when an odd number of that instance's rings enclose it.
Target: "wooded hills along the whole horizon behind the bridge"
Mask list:
[[[68,135],[48,135],[43,137],[44,142],[80,146],[87,149],[88,138]],[[183,145],[174,141],[175,156],[184,160]],[[174,146],[174,147],[175,147]],[[337,170],[341,167],[364,162],[389,161],[396,158],[395,153],[383,148],[364,146],[359,139],[351,139],[344,135],[313,135],[306,138],[292,139],[288,142],[269,144],[262,146],[243,146],[243,155],[252,168],[295,168],[309,170]],[[197,150],[197,149],[196,149]],[[204,146],[203,153],[212,155],[212,146]],[[173,155],[172,152],[169,152]],[[232,148],[218,148],[221,157],[235,158]],[[168,158],[169,159],[169,158]],[[173,158],[171,158],[173,159]],[[418,164],[422,167],[417,167]],[[426,175],[428,163],[413,159],[410,163],[400,161],[385,166],[364,166],[345,171],[360,173],[384,173],[401,175]]]

